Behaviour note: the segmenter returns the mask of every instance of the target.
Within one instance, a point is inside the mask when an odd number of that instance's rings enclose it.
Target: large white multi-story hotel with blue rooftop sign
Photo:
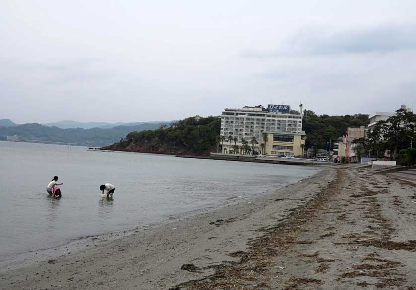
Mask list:
[[[241,109],[225,108],[221,114],[221,136],[225,137],[222,152],[225,153],[232,145],[234,138],[238,141],[236,145],[241,147],[241,139],[244,138],[251,147],[251,140],[256,137],[260,144],[263,131],[279,131],[301,133],[302,131],[302,104],[299,105],[299,111],[290,109],[287,105],[268,105],[249,107],[244,106]],[[232,138],[231,144],[229,137]],[[259,144],[255,150],[259,151]]]

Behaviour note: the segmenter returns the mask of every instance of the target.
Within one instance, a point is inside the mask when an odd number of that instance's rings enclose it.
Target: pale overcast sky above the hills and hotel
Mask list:
[[[0,1],[0,118],[416,104],[416,1]]]

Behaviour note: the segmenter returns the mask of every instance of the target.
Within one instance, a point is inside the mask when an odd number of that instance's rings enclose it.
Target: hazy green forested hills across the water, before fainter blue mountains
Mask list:
[[[49,127],[39,123],[32,123],[13,127],[0,127],[0,140],[5,140],[7,135],[17,135],[22,141],[62,142],[98,147],[119,141],[129,132],[154,130],[161,125],[169,125],[169,123],[144,123],[137,126],[116,126],[110,129],[62,129],[55,126]]]

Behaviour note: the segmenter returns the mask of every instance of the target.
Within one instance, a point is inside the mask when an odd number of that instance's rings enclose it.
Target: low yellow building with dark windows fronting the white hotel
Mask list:
[[[263,131],[267,134],[263,154],[271,156],[303,156],[305,147],[305,131],[300,133],[281,132],[281,131]]]

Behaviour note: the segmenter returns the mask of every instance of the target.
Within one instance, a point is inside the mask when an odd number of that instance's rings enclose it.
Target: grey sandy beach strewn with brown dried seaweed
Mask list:
[[[261,196],[6,265],[0,287],[415,290],[415,202],[411,181],[325,168]]]

